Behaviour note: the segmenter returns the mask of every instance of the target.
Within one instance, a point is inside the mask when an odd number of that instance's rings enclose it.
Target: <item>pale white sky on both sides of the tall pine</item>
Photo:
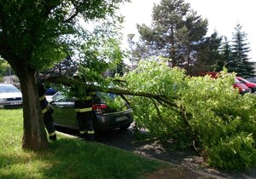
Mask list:
[[[256,17],[254,0],[185,0],[190,3],[191,9],[194,9],[198,15],[208,20],[208,35],[214,30],[219,36],[225,36],[232,40],[235,27],[239,23],[242,32],[247,33],[247,43],[251,52],[248,53],[251,61],[256,61],[256,25],[253,17]],[[151,14],[154,3],[159,4],[160,0],[131,0],[131,3],[125,3],[120,7],[120,12],[125,16],[123,24],[124,29],[124,47],[128,48],[127,34],[134,33],[132,39],[135,42],[139,35],[137,24],[150,25],[152,22]]]

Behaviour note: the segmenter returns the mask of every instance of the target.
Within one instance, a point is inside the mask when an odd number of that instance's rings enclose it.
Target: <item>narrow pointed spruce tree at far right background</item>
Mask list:
[[[248,52],[250,48],[247,46],[247,33],[241,31],[242,26],[237,24],[233,33],[233,41],[231,44],[232,60],[230,61],[229,71],[236,72],[237,76],[243,78],[253,77],[253,64],[250,62]]]

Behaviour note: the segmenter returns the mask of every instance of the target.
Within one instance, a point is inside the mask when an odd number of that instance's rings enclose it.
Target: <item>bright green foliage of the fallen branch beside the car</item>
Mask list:
[[[162,140],[172,139],[179,147],[195,147],[210,165],[221,169],[255,165],[255,96],[238,94],[232,86],[235,74],[190,78],[167,65],[141,61],[124,76],[127,89],[165,98],[129,98],[137,126]]]

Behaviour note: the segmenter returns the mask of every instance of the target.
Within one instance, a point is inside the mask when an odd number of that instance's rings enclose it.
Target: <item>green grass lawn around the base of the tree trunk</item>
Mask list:
[[[0,178],[143,178],[166,167],[135,153],[61,134],[47,151],[24,151],[22,134],[22,109],[0,109]]]

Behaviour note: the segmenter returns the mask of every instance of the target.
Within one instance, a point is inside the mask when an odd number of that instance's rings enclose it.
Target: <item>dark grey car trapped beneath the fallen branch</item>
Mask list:
[[[123,101],[123,105],[118,107],[108,106],[108,102],[103,101],[97,94],[97,98],[93,105],[94,111],[94,127],[96,132],[113,130],[113,129],[127,129],[133,122],[133,111],[131,107]],[[118,95],[105,94],[114,99]],[[119,97],[120,98],[120,97]],[[121,99],[121,98],[120,98]],[[68,98],[63,92],[57,92],[52,96],[49,103],[54,109],[53,118],[54,124],[61,127],[66,127],[74,130],[79,130],[79,125],[76,120],[76,113],[74,111],[74,100]]]

